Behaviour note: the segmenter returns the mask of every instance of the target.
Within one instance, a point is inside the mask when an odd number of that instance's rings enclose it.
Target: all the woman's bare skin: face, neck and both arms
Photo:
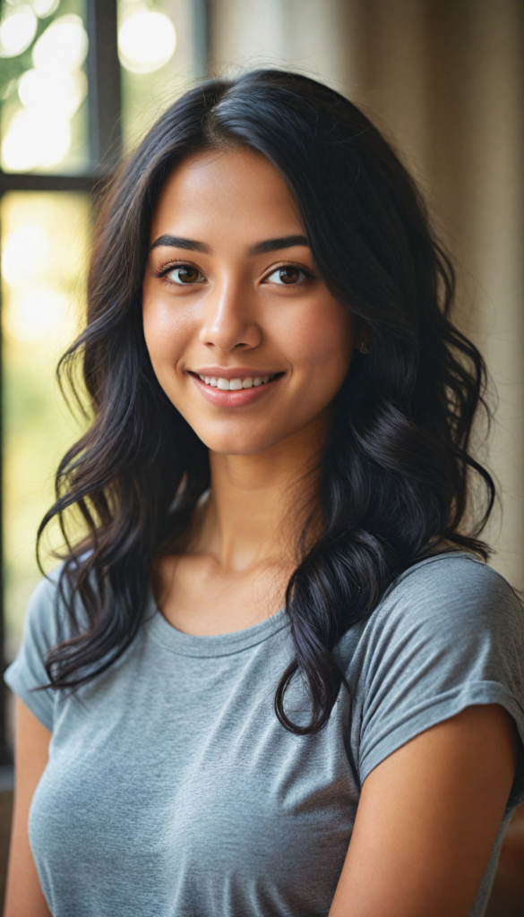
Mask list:
[[[197,241],[200,250],[165,244],[166,236]],[[144,278],[146,341],[162,388],[206,443],[211,467],[211,494],[184,544],[154,571],[162,613],[186,633],[229,633],[282,607],[330,403],[353,348],[369,343],[318,278],[307,245],[255,249],[296,236],[304,228],[279,173],[239,149],[186,160],[154,215],[151,246],[162,244],[151,249]],[[174,263],[194,282],[177,286]],[[283,264],[312,277],[292,272],[299,282],[278,282]],[[158,276],[167,265],[172,283]],[[211,403],[192,375],[210,367],[229,378],[282,375],[251,403],[225,405]],[[26,827],[49,740],[18,703],[6,917],[49,915]],[[387,757],[364,781],[330,917],[467,917],[515,768],[514,724],[496,704],[470,707]]]

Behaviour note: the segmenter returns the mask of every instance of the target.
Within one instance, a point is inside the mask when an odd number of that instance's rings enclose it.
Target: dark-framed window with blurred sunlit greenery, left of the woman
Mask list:
[[[84,312],[93,193],[205,72],[205,0],[4,0],[0,17],[0,636],[17,652],[35,535],[80,426],[55,381]],[[4,701],[6,698],[4,697]],[[10,759],[6,702],[0,763]]]

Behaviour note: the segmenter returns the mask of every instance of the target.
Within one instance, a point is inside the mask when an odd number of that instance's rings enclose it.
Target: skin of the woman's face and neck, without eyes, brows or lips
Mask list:
[[[166,182],[152,222],[152,246],[171,236],[206,249],[155,246],[143,284],[154,371],[209,447],[212,494],[184,553],[157,565],[162,612],[188,633],[228,633],[277,612],[295,566],[293,516],[314,492],[329,405],[356,336],[307,245],[260,250],[304,235],[280,174],[245,150],[186,160]],[[198,282],[158,276],[177,263]],[[278,268],[290,264],[298,282],[285,284]],[[209,367],[233,378],[282,375],[255,402],[220,407],[191,374]]]

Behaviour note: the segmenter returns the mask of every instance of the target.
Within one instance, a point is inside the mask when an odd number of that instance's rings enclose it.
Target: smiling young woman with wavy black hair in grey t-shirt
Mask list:
[[[524,625],[452,298],[395,153],[304,77],[206,83],[125,164],[42,524],[86,536],[6,675],[6,917],[484,912]]]

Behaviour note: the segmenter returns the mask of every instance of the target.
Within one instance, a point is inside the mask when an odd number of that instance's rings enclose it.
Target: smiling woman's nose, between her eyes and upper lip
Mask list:
[[[240,283],[224,281],[204,301],[200,341],[208,348],[229,353],[251,349],[262,340],[262,328],[253,314],[250,293]]]

